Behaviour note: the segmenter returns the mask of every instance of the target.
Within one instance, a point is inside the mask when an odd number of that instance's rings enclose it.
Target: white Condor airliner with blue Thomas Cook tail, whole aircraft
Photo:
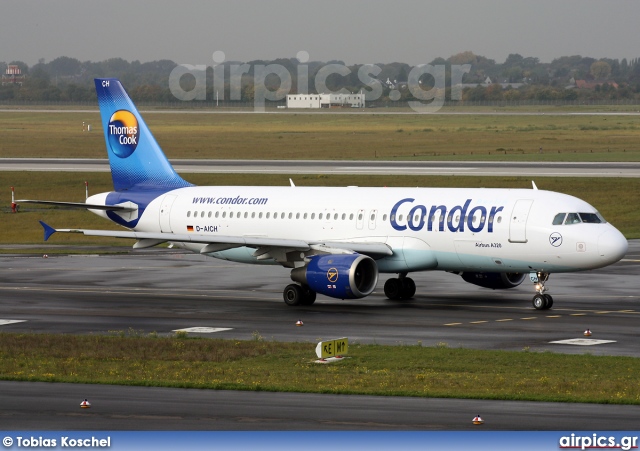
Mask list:
[[[534,282],[533,306],[548,309],[552,272],[600,268],[627,251],[624,236],[588,203],[533,189],[194,186],[172,168],[117,79],[96,79],[114,191],[84,204],[127,230],[54,232],[172,243],[207,256],[291,269],[288,305],[316,293],[357,299],[376,288],[389,299],[414,296],[407,277],[447,271],[500,289]],[[19,201],[41,202],[41,201]]]

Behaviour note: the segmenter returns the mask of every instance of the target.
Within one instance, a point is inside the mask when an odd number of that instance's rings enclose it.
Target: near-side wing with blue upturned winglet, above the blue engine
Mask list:
[[[377,242],[330,242],[322,240],[291,240],[268,237],[251,236],[225,236],[225,235],[201,235],[196,233],[165,233],[165,232],[136,232],[118,230],[90,230],[90,229],[54,229],[43,221],[40,224],[44,228],[44,240],[47,241],[56,232],[82,233],[86,236],[105,236],[113,238],[129,238],[137,240],[134,249],[141,249],[156,246],[165,242],[177,243],[202,243],[206,246],[201,253],[216,252],[235,247],[257,248],[256,255],[273,255],[274,250],[280,251],[301,251],[306,252],[312,249],[319,251],[343,251],[357,252],[376,257],[393,255],[391,248],[385,243]],[[278,260],[278,259],[276,259]]]

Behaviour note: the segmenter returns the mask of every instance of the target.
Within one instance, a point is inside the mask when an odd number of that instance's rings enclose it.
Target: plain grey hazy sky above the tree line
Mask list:
[[[0,61],[69,56],[179,64],[295,57],[429,63],[470,50],[504,62],[640,56],[637,0],[3,0]]]

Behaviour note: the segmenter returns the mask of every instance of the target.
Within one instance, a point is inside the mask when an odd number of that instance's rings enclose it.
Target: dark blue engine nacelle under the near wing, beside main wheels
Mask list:
[[[307,266],[291,271],[291,279],[332,298],[358,299],[376,288],[378,266],[361,254],[314,255]]]

